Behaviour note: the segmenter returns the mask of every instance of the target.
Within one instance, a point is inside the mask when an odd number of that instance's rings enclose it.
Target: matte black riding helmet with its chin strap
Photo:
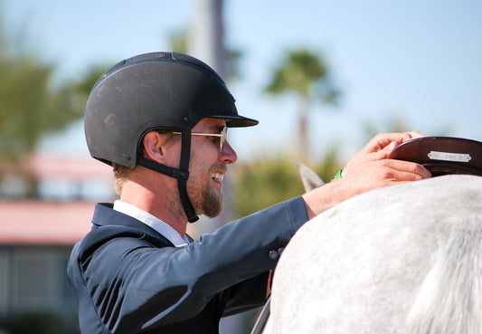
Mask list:
[[[99,78],[87,101],[84,126],[90,155],[109,165],[140,165],[177,178],[192,223],[198,217],[186,190],[191,129],[204,118],[224,119],[228,128],[258,124],[238,115],[234,101],[211,67],[186,54],[153,52],[118,62]],[[179,168],[137,155],[142,138],[154,129],[182,132]]]

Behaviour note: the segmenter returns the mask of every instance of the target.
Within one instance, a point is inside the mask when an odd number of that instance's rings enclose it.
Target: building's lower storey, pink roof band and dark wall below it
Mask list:
[[[75,309],[66,265],[92,212],[82,202],[0,202],[1,313]]]

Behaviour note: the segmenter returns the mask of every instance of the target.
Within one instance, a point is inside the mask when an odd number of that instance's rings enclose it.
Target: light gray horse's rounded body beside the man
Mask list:
[[[282,254],[270,309],[264,333],[482,333],[482,177],[390,186],[318,215]]]

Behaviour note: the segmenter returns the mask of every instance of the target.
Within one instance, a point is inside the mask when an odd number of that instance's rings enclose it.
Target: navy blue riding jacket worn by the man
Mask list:
[[[219,320],[263,304],[269,270],[307,221],[301,197],[176,248],[112,205],[71,253],[80,329],[98,333],[218,333]]]

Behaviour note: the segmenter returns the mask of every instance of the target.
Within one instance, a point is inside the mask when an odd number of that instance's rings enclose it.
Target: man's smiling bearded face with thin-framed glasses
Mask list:
[[[193,133],[219,134],[225,122],[222,119],[202,119]],[[237,159],[236,152],[226,141],[220,151],[219,137],[192,136],[191,160],[187,194],[196,213],[214,217],[221,214],[224,205],[222,178],[228,165]]]

